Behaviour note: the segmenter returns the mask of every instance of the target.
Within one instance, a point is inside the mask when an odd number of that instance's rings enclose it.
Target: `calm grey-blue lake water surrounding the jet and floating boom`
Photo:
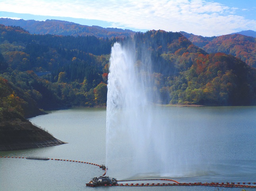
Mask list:
[[[162,107],[160,111],[156,113],[159,115],[159,120],[172,117],[170,126],[172,129],[167,129],[166,132],[170,134],[170,138],[178,137],[179,144],[176,144],[175,148],[192,153],[186,155],[186,152],[183,152],[184,160],[187,156],[193,156],[200,161],[198,169],[193,169],[193,173],[184,172],[179,176],[177,174],[173,177],[168,176],[169,178],[179,182],[256,182],[256,107]],[[100,165],[106,163],[106,109],[72,108],[49,112],[48,115],[40,115],[29,120],[68,144],[5,151],[0,152],[0,156],[38,156],[86,161]],[[113,160],[118,161],[118,158],[121,159],[122,156],[117,153]],[[186,161],[190,163],[193,160],[186,159]],[[103,173],[103,170],[94,165],[75,162],[1,158],[0,190],[120,190],[120,187],[85,186],[92,177]],[[110,175],[118,180],[125,173],[120,169],[117,174]],[[183,186],[121,187],[121,189],[217,190],[214,187]],[[219,190],[241,191],[242,189],[219,188]]]

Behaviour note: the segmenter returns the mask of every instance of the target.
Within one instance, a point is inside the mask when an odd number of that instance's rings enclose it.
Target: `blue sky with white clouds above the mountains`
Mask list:
[[[256,31],[256,0],[0,0],[0,17],[220,36]]]

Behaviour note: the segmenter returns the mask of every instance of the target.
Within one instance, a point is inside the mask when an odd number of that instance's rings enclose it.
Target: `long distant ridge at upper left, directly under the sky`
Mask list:
[[[103,28],[100,26],[79,25],[68,21],[59,20],[15,20],[0,18],[0,24],[6,26],[21,26],[31,34],[56,34],[63,36],[96,36],[97,38],[124,38],[134,35],[135,32],[120,28]]]

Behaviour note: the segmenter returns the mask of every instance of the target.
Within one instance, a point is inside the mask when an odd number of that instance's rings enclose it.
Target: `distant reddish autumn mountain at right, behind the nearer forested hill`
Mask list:
[[[256,68],[256,39],[252,36],[227,34],[218,37],[203,37],[186,32],[181,32],[181,34],[208,53],[222,52],[233,55]]]

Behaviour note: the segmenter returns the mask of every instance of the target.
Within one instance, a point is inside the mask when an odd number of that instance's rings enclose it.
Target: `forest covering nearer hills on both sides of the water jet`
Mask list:
[[[111,47],[131,41],[137,64],[152,62],[148,75],[159,95],[157,104],[256,104],[255,68],[232,55],[209,54],[179,32],[97,38],[30,34],[19,26],[0,25],[0,119],[106,106]],[[142,60],[145,50],[148,59]]]

